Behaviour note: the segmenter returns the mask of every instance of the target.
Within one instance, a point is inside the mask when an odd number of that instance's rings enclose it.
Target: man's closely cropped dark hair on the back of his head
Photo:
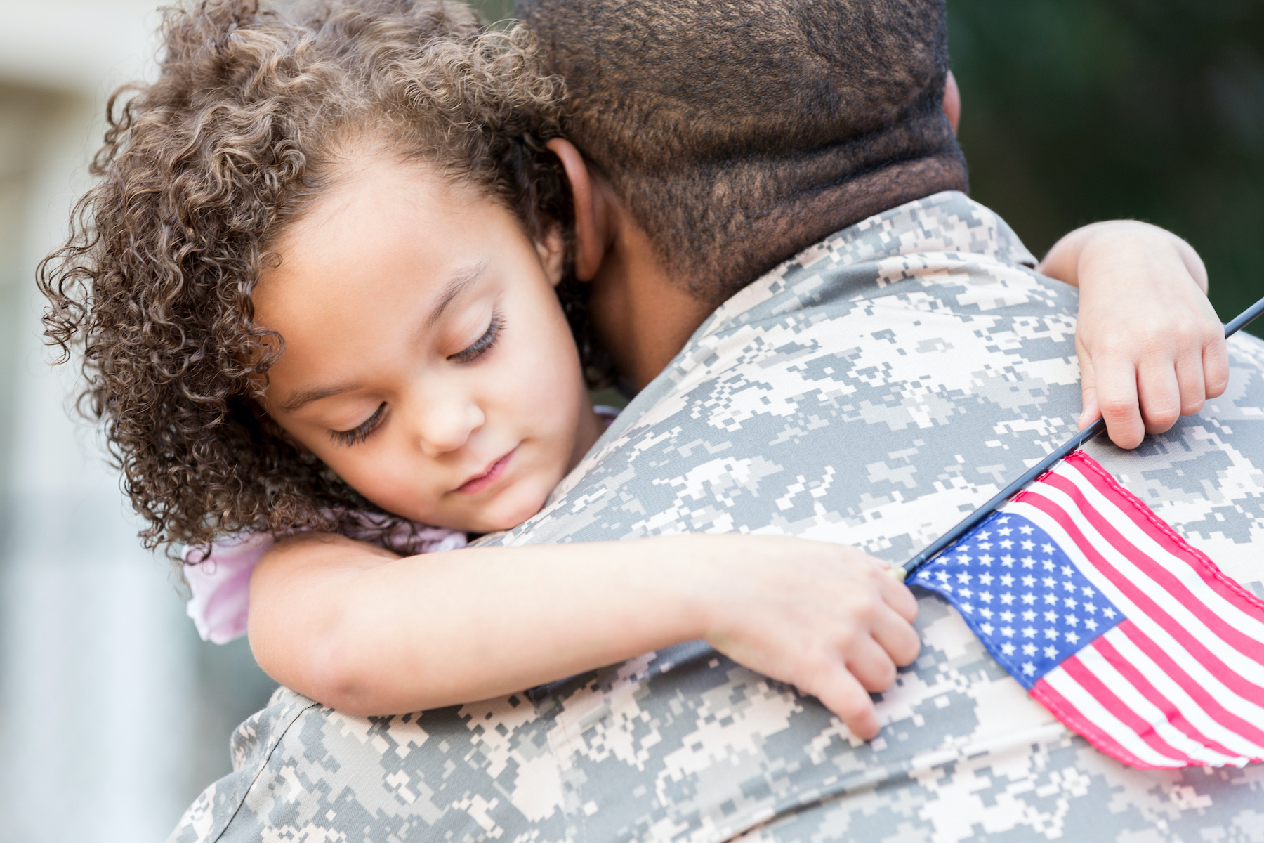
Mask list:
[[[517,14],[566,81],[568,136],[700,298],[966,187],[942,110],[943,0],[520,0]]]

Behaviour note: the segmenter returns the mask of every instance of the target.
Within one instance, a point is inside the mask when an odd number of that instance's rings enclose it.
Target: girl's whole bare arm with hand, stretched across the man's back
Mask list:
[[[913,594],[847,546],[685,535],[397,559],[337,536],[277,545],[250,647],[277,681],[354,714],[468,703],[705,638],[813,694],[853,733],[920,642]]]

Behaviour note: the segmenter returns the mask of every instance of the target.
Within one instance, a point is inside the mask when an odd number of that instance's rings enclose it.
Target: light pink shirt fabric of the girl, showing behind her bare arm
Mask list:
[[[437,554],[465,546],[465,533],[423,527],[412,536],[411,551]],[[202,641],[226,645],[245,634],[250,609],[250,574],[272,547],[269,533],[234,536],[205,547],[185,549],[185,579],[192,597],[185,610]],[[205,556],[204,556],[205,554]]]

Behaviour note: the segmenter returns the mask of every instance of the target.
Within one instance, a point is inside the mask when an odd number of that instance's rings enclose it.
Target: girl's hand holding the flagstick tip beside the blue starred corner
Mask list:
[[[870,691],[918,657],[913,593],[854,547],[781,536],[726,542],[707,578],[707,641],[729,658],[811,694],[870,739]]]

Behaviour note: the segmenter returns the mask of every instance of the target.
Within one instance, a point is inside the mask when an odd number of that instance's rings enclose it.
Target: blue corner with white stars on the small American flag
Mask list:
[[[948,598],[1028,690],[1124,619],[1047,532],[1006,512],[994,513],[908,584]]]

